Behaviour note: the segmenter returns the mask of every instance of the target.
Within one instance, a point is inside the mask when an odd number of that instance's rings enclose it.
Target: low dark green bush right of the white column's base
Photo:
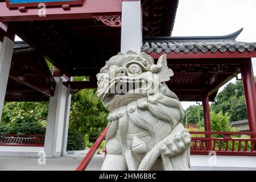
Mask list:
[[[85,140],[82,134],[75,129],[69,128],[68,130],[68,143],[67,151],[72,150],[85,150]]]

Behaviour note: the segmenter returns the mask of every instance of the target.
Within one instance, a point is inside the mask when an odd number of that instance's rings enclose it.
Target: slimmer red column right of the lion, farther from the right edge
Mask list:
[[[210,106],[209,106],[209,96],[206,94],[203,96],[203,107],[204,107],[204,130],[211,131],[210,129]],[[206,134],[206,138],[212,138],[211,134]],[[212,142],[207,142],[207,149],[212,150]]]

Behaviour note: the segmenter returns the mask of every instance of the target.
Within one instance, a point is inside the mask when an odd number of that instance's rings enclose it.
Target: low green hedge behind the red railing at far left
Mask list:
[[[0,134],[44,135],[46,127],[39,122],[9,122],[0,125]]]

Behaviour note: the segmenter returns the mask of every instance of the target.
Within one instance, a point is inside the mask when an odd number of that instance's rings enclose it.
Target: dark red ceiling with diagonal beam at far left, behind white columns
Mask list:
[[[42,56],[23,42],[16,42],[5,101],[48,101],[55,81]]]

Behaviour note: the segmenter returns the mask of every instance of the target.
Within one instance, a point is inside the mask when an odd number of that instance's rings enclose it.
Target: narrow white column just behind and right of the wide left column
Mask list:
[[[61,148],[61,156],[67,155],[67,142],[68,142],[68,125],[69,125],[69,113],[71,106],[71,94],[70,94],[70,85],[67,88],[67,101],[65,105],[65,118],[64,118],[64,133],[63,133],[63,141]]]

